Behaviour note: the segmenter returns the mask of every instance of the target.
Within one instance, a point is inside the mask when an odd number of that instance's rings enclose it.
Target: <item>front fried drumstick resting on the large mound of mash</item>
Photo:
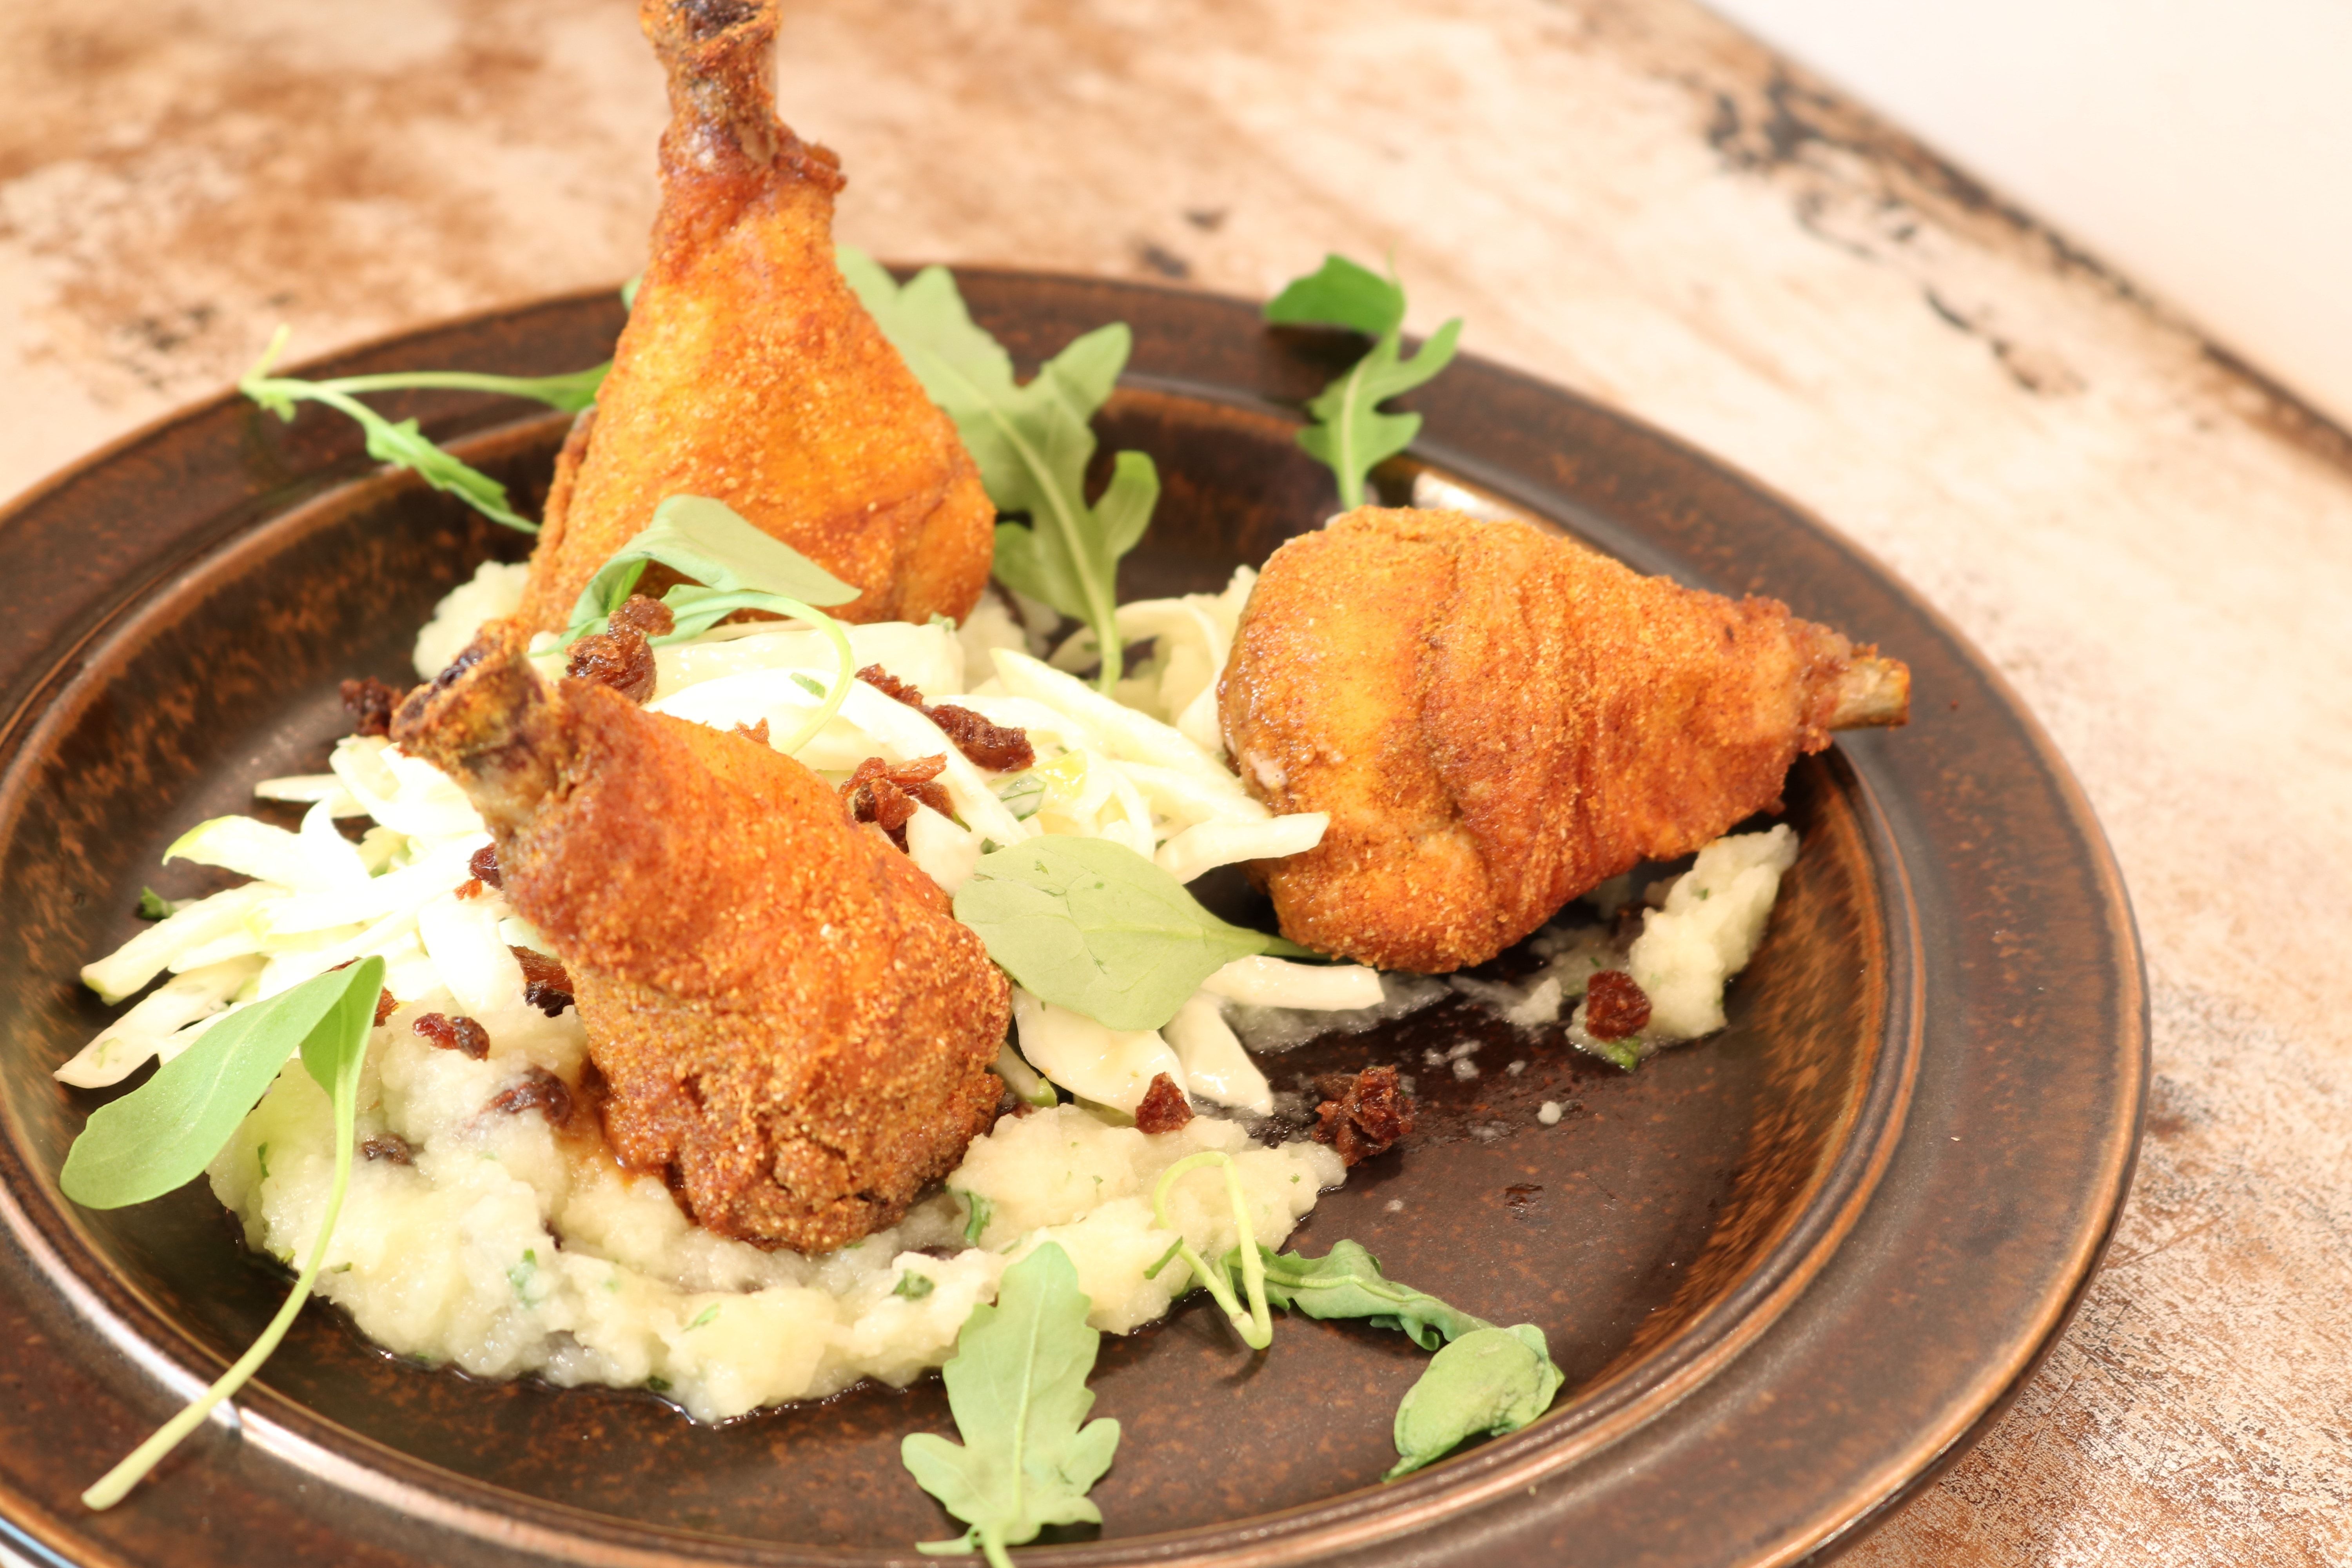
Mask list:
[[[546,684],[492,623],[402,703],[572,976],[621,1161],[694,1222],[816,1253],[891,1225],[995,1121],[1011,994],[948,898],[746,736]]]

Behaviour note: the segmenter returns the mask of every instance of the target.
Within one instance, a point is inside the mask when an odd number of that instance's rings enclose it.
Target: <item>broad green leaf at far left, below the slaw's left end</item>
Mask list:
[[[376,987],[383,985],[383,959]],[[353,969],[230,1013],[132,1093],[89,1114],[56,1185],[82,1208],[125,1208],[195,1180],[308,1041],[336,1027]],[[376,990],[367,992],[374,1018]]]

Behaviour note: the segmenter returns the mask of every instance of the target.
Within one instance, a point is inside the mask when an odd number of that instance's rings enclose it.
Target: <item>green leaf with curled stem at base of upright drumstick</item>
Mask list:
[[[779,616],[797,616],[833,642],[833,686],[811,686],[795,675],[795,682],[821,693],[800,729],[776,743],[790,757],[821,731],[849,701],[849,684],[856,679],[856,654],[840,621],[814,609],[816,604],[844,604],[858,590],[840,581],[793,545],[762,534],[724,501],[708,496],[668,496],[654,508],[654,522],[640,529],[626,545],[597,567],[581,597],[572,604],[572,623],[564,628],[564,644],[612,625],[612,611],[628,602],[628,595],[644,578],[654,562],[670,567],[691,583],[673,583],[661,602],[670,607],[675,625],[652,642],[687,642],[701,637],[713,625],[739,609],[769,609]]]

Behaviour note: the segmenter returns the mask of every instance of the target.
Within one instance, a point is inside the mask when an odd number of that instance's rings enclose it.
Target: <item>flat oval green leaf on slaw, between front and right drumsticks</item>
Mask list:
[[[1124,844],[1065,835],[981,856],[955,919],[1030,994],[1112,1030],[1157,1030],[1232,959],[1298,952],[1228,926]]]

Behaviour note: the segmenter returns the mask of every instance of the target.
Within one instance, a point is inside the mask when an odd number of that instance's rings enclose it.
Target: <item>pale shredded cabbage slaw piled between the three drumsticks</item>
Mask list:
[[[929,717],[863,682],[849,684],[840,712],[793,755],[833,783],[868,757],[901,764],[943,755],[938,780],[953,813],[917,806],[906,839],[908,856],[948,893],[988,849],[1040,835],[1112,839],[1178,882],[1312,849],[1329,818],[1268,813],[1225,769],[1216,731],[1216,677],[1254,581],[1244,567],[1216,595],[1122,604],[1120,637],[1150,639],[1155,651],[1120,682],[1115,698],[1070,672],[1094,661],[1091,632],[1042,661],[993,599],[962,632],[946,621],[849,625],[856,668],[882,665],[920,686],[929,703],[955,703],[1028,731],[1037,762],[1018,773],[974,766]],[[496,562],[452,590],[419,632],[419,675],[440,670],[482,621],[510,614],[520,592],[522,571]],[[534,658],[555,675],[562,651],[553,637],[546,644]],[[656,646],[654,661],[652,712],[715,729],[764,719],[771,736],[802,729],[840,677],[833,642],[797,621],[720,625]],[[983,677],[967,682],[969,672]],[[254,788],[259,799],[306,804],[299,830],[221,816],[172,844],[165,860],[249,882],[174,907],[82,969],[106,1001],[134,997],[158,978],[162,985],[82,1046],[56,1079],[80,1088],[120,1084],[151,1058],[172,1060],[238,1009],[369,954],[383,957],[393,997],[445,987],[492,1034],[529,1006],[510,947],[546,943],[499,889],[473,879],[468,863],[489,832],[463,790],[383,738],[339,741],[329,769]],[[358,842],[339,825],[350,818],[367,818]],[[1080,1100],[1131,1112],[1164,1072],[1185,1093],[1268,1114],[1272,1091],[1225,1023],[1225,1006],[1329,1011],[1378,1001],[1381,978],[1371,969],[1258,957],[1211,976],[1162,1030],[1122,1032],[1016,987],[1018,1053],[1007,1046],[1000,1070],[1033,1103],[1049,1095],[1044,1079]]]

